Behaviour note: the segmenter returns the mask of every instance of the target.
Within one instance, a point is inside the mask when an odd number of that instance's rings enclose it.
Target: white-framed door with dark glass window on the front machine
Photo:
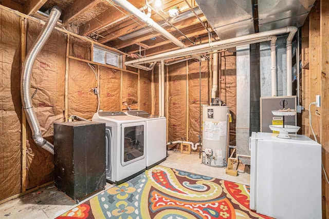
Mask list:
[[[121,165],[125,166],[145,157],[145,122],[121,125]]]

